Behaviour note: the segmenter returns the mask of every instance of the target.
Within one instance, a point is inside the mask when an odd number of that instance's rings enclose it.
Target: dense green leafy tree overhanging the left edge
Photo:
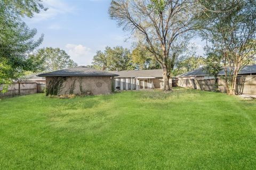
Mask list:
[[[30,30],[21,18],[31,18],[40,10],[46,8],[39,0],[0,1],[0,84],[8,85],[25,71],[36,70],[29,54],[42,43],[43,35],[34,40],[36,29]]]

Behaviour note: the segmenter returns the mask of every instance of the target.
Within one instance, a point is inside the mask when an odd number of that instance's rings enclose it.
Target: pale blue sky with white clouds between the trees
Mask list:
[[[24,21],[36,28],[38,37],[44,34],[40,48],[59,47],[78,65],[89,65],[97,50],[106,46],[131,48],[129,33],[119,28],[108,14],[110,0],[43,0],[47,11]],[[197,46],[197,55],[203,55],[200,38],[191,40]]]

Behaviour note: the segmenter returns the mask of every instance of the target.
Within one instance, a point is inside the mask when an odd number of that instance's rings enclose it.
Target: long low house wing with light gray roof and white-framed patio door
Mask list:
[[[128,70],[112,71],[115,77],[116,90],[162,89],[163,70]],[[169,81],[170,86],[172,80]]]

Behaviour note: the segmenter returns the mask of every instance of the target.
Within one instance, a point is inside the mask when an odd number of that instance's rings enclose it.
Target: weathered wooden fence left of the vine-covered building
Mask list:
[[[18,95],[29,95],[44,92],[45,84],[37,82],[14,82],[8,87],[8,91],[2,93],[3,85],[0,85],[0,98]]]

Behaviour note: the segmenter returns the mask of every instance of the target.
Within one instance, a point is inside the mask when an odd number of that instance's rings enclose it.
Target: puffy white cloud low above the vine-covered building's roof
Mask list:
[[[92,58],[94,53],[89,47],[83,46],[81,44],[67,44],[67,53],[71,56],[78,65],[88,65],[92,63]]]

